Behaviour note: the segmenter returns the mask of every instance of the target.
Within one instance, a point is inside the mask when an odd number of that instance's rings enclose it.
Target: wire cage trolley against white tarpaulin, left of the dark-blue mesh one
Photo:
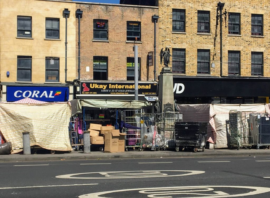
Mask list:
[[[230,149],[251,148],[254,145],[253,116],[257,112],[239,112],[231,110],[229,120],[226,120],[227,134],[230,136]],[[228,128],[229,127],[229,128]]]

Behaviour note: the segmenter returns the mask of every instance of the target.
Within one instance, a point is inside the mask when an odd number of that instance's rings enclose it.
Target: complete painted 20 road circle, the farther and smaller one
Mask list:
[[[179,174],[180,173],[180,174]],[[153,178],[153,177],[177,177],[187,175],[197,175],[205,171],[108,171],[89,172],[58,175],[56,178],[62,179],[130,179],[130,178]],[[90,177],[78,177],[78,175],[91,175]]]

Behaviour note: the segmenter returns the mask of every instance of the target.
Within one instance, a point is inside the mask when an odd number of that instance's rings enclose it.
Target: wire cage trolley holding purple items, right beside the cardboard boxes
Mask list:
[[[122,132],[127,134],[125,136],[125,150],[142,151],[141,110],[124,110],[122,120],[124,120]]]

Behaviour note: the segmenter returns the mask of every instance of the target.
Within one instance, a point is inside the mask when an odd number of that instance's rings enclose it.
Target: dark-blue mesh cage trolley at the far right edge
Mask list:
[[[268,113],[254,113],[250,116],[251,134],[254,136],[254,146],[270,147],[270,120]]]

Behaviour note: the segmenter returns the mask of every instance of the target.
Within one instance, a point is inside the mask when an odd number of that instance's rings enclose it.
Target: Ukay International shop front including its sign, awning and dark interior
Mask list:
[[[138,112],[152,113],[152,103],[158,99],[156,82],[139,82],[139,100],[134,100],[134,82],[80,81],[78,85],[75,100],[71,101],[73,145],[80,144],[80,134],[89,129],[90,124],[112,126],[121,132],[127,113],[130,119]]]

